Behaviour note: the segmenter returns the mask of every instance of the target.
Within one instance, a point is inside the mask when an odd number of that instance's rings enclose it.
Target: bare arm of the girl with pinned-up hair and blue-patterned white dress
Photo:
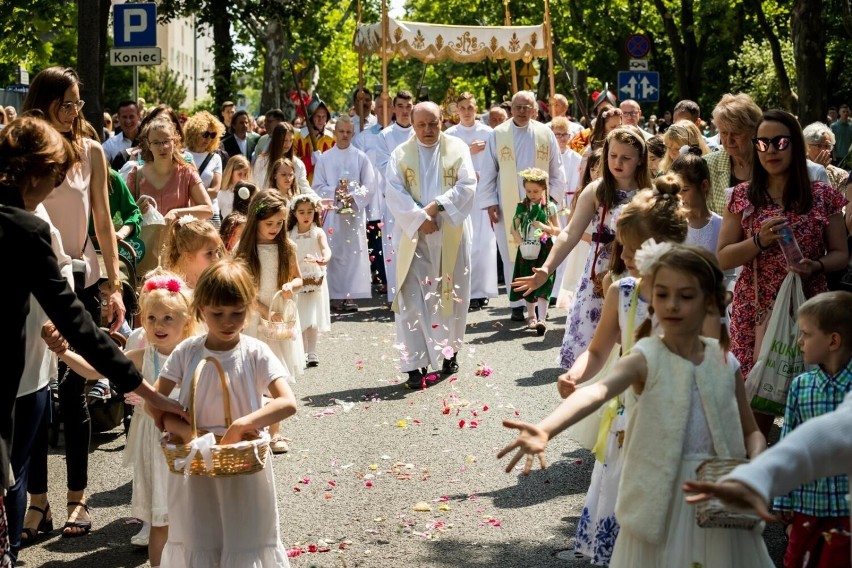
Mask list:
[[[595,330],[592,342],[589,343],[589,348],[577,358],[566,373],[559,375],[556,388],[562,398],[567,398],[577,389],[577,385],[600,373],[606,364],[621,334],[621,328],[618,325],[618,302],[618,284],[616,283],[609,287],[609,292],[604,297],[601,321]]]

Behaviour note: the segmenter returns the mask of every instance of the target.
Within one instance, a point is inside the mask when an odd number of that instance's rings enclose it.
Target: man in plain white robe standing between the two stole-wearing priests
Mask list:
[[[462,93],[456,99],[459,124],[447,129],[446,134],[461,138],[470,150],[473,168],[479,172],[485,159],[485,145],[491,136],[491,127],[477,120],[476,99],[471,93]],[[478,193],[477,193],[478,195]],[[491,226],[488,211],[474,207],[470,214],[473,222],[473,249],[470,266],[470,307],[481,308],[488,298],[497,297],[497,237]]]

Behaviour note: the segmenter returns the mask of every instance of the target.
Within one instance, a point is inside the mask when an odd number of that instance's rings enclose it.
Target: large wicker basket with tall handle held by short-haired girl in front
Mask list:
[[[221,363],[213,357],[205,357],[195,367],[192,374],[192,384],[189,391],[189,424],[192,428],[193,440],[198,438],[198,429],[195,422],[195,391],[198,388],[198,378],[205,363],[212,363],[219,374],[219,382],[222,385],[222,404],[225,410],[225,427],[231,426],[231,396],[230,384]],[[196,451],[192,461],[182,467],[178,460],[186,460],[193,451],[192,444],[184,443],[180,438],[163,438],[160,447],[166,457],[169,471],[184,475],[200,475],[205,477],[231,477],[234,475],[246,475],[261,471],[266,465],[266,456],[269,453],[269,436],[245,436],[243,441],[236,444],[219,445],[221,436],[216,437],[216,445],[210,448],[212,467],[208,469],[204,462],[204,456]]]

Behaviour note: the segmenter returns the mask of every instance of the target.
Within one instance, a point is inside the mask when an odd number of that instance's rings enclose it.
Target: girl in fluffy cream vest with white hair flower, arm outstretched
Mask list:
[[[607,376],[581,387],[536,424],[506,420],[520,430],[497,455],[517,448],[506,471],[525,458],[545,465],[547,442],[627,389],[637,396],[624,441],[624,469],[615,506],[621,527],[610,566],[728,568],[774,566],[758,525],[752,530],[700,528],[680,496],[702,461],[754,457],[766,448],[745,396],[728,336],[701,336],[705,318],[725,309],[722,271],[707,251],[649,241],[634,262],[652,291],[649,319],[630,354]],[[650,316],[662,336],[647,337]],[[627,473],[629,472],[629,474]]]

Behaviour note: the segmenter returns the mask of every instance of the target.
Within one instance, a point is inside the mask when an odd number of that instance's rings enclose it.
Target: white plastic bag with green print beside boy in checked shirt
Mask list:
[[[775,298],[760,353],[746,380],[751,407],[783,416],[792,380],[809,369],[799,349],[799,306],[805,303],[802,279],[788,272]]]

